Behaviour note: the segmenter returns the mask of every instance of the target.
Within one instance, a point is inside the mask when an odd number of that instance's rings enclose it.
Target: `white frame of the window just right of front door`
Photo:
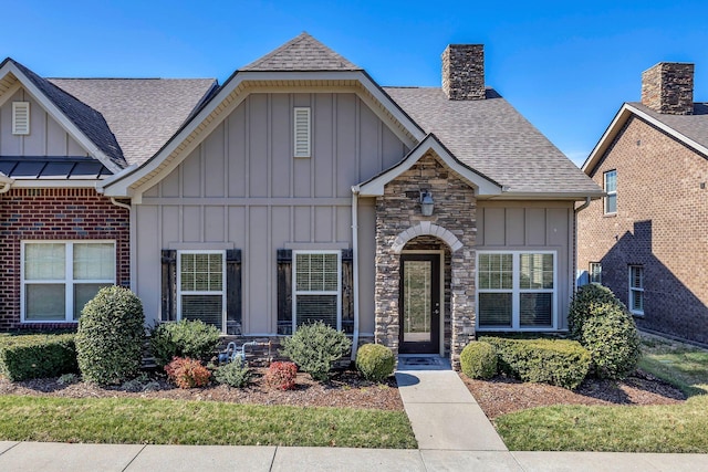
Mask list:
[[[509,293],[511,292],[511,327],[509,326],[480,326],[479,316],[476,316],[475,324],[477,331],[524,331],[524,332],[543,332],[556,329],[558,326],[558,251],[549,250],[525,250],[525,251],[477,251],[476,255],[476,273],[475,281],[479,280],[479,256],[481,254],[511,254],[511,290],[502,289],[479,289],[475,293],[475,306],[479,306],[480,293]],[[521,289],[521,254],[553,254],[553,289]],[[521,326],[521,294],[522,293],[552,293],[553,307],[551,310],[551,326]]]

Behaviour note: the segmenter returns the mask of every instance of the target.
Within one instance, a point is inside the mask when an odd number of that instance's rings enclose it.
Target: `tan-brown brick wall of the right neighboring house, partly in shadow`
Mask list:
[[[708,343],[708,160],[633,117],[591,176],[617,170],[617,213],[594,201],[577,216],[577,264],[602,262],[624,303],[628,265],[644,265],[641,327]],[[701,188],[701,186],[704,188]]]

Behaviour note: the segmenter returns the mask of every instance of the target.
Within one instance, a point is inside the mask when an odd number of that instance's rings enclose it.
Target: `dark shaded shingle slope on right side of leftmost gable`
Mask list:
[[[115,165],[123,168],[126,161],[123,158],[121,146],[111,132],[108,124],[101,113],[76,99],[65,91],[56,87],[50,81],[40,77],[17,61],[12,63],[69,118],[93,144],[103,151]]]

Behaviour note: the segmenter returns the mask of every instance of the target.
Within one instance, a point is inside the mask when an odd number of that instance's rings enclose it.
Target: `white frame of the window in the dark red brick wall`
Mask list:
[[[114,266],[113,279],[74,279],[74,244],[113,244]],[[52,280],[24,280],[24,248],[27,244],[64,244],[64,279]],[[116,242],[112,239],[97,240],[23,240],[20,245],[20,322],[27,324],[46,324],[46,323],[79,323],[74,319],[74,285],[76,284],[112,284],[115,285],[115,273],[118,266],[118,258],[116,255]],[[25,286],[42,284],[64,284],[64,319],[27,319],[25,316]]]

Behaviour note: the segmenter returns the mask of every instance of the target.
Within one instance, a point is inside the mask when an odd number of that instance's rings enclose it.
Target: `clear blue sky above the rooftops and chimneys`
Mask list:
[[[439,86],[449,43],[483,43],[493,86],[582,164],[641,73],[696,63],[708,99],[708,2],[40,1],[3,7],[0,56],[43,76],[216,77],[308,31],[381,85]]]

